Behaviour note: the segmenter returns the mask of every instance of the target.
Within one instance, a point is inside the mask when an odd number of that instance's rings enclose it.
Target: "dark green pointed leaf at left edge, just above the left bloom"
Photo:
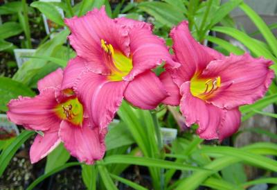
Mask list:
[[[6,107],[10,99],[18,96],[35,96],[35,93],[26,85],[8,77],[0,77],[0,110],[8,111]]]

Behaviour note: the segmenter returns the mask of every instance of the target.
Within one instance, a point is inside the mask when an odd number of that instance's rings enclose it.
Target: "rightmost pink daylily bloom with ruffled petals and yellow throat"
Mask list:
[[[160,79],[170,96],[163,103],[180,105],[186,125],[197,123],[203,139],[224,139],[240,126],[240,105],[251,104],[264,96],[274,78],[270,60],[244,55],[224,55],[195,41],[183,21],[172,29],[175,61],[181,67],[166,72]]]

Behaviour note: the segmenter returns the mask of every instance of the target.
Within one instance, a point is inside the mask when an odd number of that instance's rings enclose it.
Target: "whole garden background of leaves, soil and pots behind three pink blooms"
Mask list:
[[[247,51],[265,57],[277,71],[274,0],[6,0],[0,6],[3,114],[10,99],[35,96],[37,80],[75,57],[59,8],[65,17],[73,17],[103,5],[111,18],[152,23],[154,33],[168,46],[172,45],[170,28],[186,19],[200,43],[224,55]],[[46,34],[42,14],[57,30]],[[57,34],[51,37],[53,33]],[[35,53],[18,68],[15,49],[35,49]],[[159,74],[162,68],[155,71]],[[264,98],[240,107],[244,122],[239,132],[220,144],[199,139],[197,126],[186,128],[178,107],[161,105],[145,111],[123,102],[109,126],[105,158],[91,166],[70,157],[62,144],[31,165],[28,150],[35,132],[19,126],[18,136],[0,140],[0,189],[277,189],[276,103],[274,79]],[[177,137],[166,141],[161,127],[177,130]],[[5,131],[0,132],[3,137]]]

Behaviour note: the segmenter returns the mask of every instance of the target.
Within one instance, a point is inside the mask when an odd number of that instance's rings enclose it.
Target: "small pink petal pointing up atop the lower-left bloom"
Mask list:
[[[37,88],[39,89],[39,91],[41,91],[42,89],[48,88],[48,87],[55,87],[55,88],[60,87],[62,83],[62,77],[63,77],[63,71],[62,69],[59,68],[53,71],[51,74],[48,74],[44,78],[40,79],[37,82]]]

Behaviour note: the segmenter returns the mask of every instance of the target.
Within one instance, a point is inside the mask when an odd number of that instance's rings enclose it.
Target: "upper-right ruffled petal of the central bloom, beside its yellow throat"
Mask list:
[[[153,69],[166,61],[171,67],[179,67],[174,62],[162,38],[152,34],[146,25],[136,25],[129,30],[130,49],[133,69],[125,76],[125,80],[132,80],[136,75]]]

